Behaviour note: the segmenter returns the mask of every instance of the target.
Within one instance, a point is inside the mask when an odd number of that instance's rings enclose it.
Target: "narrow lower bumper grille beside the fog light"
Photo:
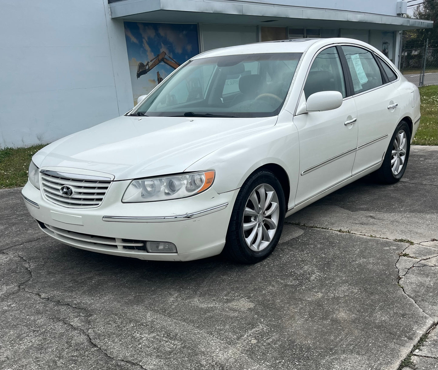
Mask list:
[[[66,244],[73,244],[81,247],[103,247],[105,249],[136,249],[138,251],[146,251],[146,243],[142,240],[109,238],[106,236],[97,236],[90,234],[83,234],[80,232],[68,231],[60,228],[55,228],[49,224],[43,224],[38,221],[42,231],[47,235],[58,239],[60,242]]]

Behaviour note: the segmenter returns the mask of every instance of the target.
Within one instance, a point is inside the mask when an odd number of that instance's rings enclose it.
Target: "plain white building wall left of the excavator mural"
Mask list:
[[[106,0],[0,0],[0,146],[53,142],[133,106]]]

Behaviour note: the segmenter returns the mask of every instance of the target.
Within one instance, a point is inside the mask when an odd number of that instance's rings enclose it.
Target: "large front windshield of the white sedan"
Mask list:
[[[228,55],[191,60],[132,115],[269,117],[279,113],[301,53]]]

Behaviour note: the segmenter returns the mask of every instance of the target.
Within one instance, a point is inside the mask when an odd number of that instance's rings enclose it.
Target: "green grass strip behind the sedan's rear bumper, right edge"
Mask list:
[[[421,120],[412,143],[438,145],[438,86],[422,86],[419,90]]]

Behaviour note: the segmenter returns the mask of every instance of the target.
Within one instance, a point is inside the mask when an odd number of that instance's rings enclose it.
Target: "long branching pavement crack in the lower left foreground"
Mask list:
[[[35,239],[35,240],[37,240],[37,239]],[[68,303],[68,302],[61,302],[59,299],[52,299],[52,298],[50,298],[50,297],[45,297],[45,296],[41,295],[39,292],[32,292],[31,290],[26,289],[23,285],[25,285],[26,283],[28,283],[29,281],[31,281],[31,280],[33,279],[32,268],[31,268],[31,264],[30,264],[30,262],[29,262],[28,260],[26,260],[24,256],[21,256],[21,254],[19,254],[19,253],[14,253],[14,252],[9,252],[9,253],[7,253],[7,252],[4,252],[4,250],[1,250],[0,252],[3,253],[3,254],[7,254],[7,255],[18,256],[18,257],[19,257],[22,261],[24,261],[25,264],[26,264],[26,269],[27,269],[27,271],[28,271],[29,278],[28,278],[26,281],[24,281],[23,283],[21,283],[21,284],[18,285],[18,291],[17,291],[17,292],[19,292],[19,291],[22,290],[22,291],[24,291],[24,292],[27,292],[27,293],[31,293],[31,294],[33,294],[33,295],[36,295],[39,299],[43,299],[43,300],[47,300],[47,301],[50,301],[50,302],[54,302],[54,303],[59,304],[59,305],[66,305],[66,306],[69,306],[69,307],[71,307],[71,308],[73,308],[73,309],[76,309],[76,310],[85,310],[86,312],[90,313],[90,310],[88,310],[88,309],[85,308],[85,307],[74,306],[74,305],[72,305],[71,303]],[[11,295],[16,294],[17,292],[14,292],[14,293],[9,294],[9,295],[5,295],[4,297],[5,297],[5,298],[10,297]],[[83,334],[85,334],[85,336],[86,336],[88,342],[89,342],[91,345],[93,345],[95,348],[99,349],[99,351],[101,351],[102,353],[104,353],[108,358],[113,359],[114,361],[122,361],[122,362],[124,362],[124,363],[129,363],[129,364],[131,364],[131,365],[139,366],[141,369],[146,369],[144,366],[142,366],[142,365],[140,365],[139,363],[136,363],[136,362],[134,362],[134,361],[131,361],[131,360],[125,360],[125,359],[117,359],[117,358],[115,358],[115,357],[113,357],[113,356],[110,356],[106,351],[104,351],[102,348],[100,348],[99,345],[97,345],[95,342],[92,341],[92,338],[90,337],[90,335],[89,335],[84,329],[82,329],[82,328],[80,328],[80,327],[75,327],[73,324],[70,324],[70,323],[66,322],[65,320],[63,320],[63,319],[60,319],[59,317],[55,317],[55,319],[57,319],[57,320],[63,322],[63,323],[66,324],[66,325],[69,325],[69,326],[73,327],[74,329],[76,329],[76,330],[78,330],[78,331],[81,331]],[[92,326],[92,323],[91,323],[89,317],[87,317],[87,321],[88,321],[89,327],[90,327],[91,329],[93,329],[93,326]],[[147,370],[147,369],[146,369],[146,370]]]

